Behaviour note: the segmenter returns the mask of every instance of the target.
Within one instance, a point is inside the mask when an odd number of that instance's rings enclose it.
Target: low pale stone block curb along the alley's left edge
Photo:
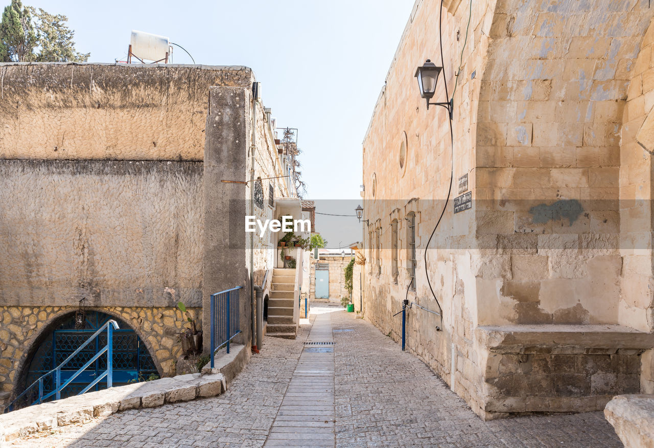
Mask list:
[[[86,422],[118,411],[213,397],[226,390],[227,384],[222,373],[190,373],[29,406],[0,415],[0,445],[3,441],[12,441],[58,426]]]

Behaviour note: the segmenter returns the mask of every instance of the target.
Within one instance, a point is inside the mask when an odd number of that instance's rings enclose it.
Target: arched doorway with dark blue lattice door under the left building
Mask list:
[[[64,316],[63,320],[58,321],[50,331],[44,333],[40,342],[37,342],[39,346],[36,348],[26,371],[24,371],[24,381],[21,384],[23,390],[34,381],[37,381],[39,377],[61,364],[109,319],[118,322],[120,327],[120,329],[114,330],[113,336],[113,385],[122,386],[144,381],[150,375],[158,374],[145,344],[124,320],[99,311],[86,312],[84,318],[83,329],[75,328],[75,313],[73,312]],[[84,347],[75,358],[67,363],[65,369],[62,369],[61,383],[65,383],[77,369],[93,358],[106,343],[107,333],[103,332],[95,338],[94,342]],[[78,394],[94,380],[96,375],[99,375],[105,369],[107,369],[107,357],[103,355],[61,391],[61,398]],[[48,375],[43,384],[44,394],[53,390],[52,383],[52,375]],[[106,381],[100,381],[92,390],[104,388],[107,388]],[[34,400],[35,397],[26,396],[24,400],[20,400],[24,402],[16,403],[16,408],[30,405]]]

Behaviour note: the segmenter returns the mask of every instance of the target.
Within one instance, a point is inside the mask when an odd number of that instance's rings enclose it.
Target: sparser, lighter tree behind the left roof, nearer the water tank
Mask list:
[[[75,31],[68,28],[68,18],[63,14],[50,14],[39,8],[29,10],[35,17],[35,29],[39,53],[37,62],[86,62],[90,53],[75,50],[73,36]]]

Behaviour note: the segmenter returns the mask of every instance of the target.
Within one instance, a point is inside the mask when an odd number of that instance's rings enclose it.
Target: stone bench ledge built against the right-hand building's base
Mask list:
[[[601,411],[615,395],[640,393],[641,356],[654,335],[618,325],[480,326],[475,345],[490,419]]]

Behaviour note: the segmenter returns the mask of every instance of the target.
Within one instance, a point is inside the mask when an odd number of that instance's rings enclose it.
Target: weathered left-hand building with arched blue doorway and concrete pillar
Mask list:
[[[177,302],[207,352],[210,295],[243,286],[249,350],[250,276],[262,282],[276,241],[250,238],[245,215],[272,218],[276,198],[300,208],[252,70],[2,64],[0,80],[3,398],[77,347],[65,331],[80,305],[118,320],[131,339],[114,350],[137,373],[169,376]]]

